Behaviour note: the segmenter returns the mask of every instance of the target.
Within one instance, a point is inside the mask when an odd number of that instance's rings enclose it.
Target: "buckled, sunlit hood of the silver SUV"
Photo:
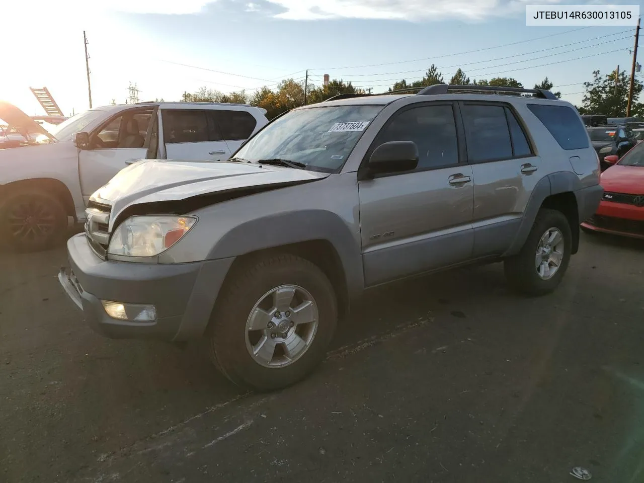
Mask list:
[[[157,205],[166,213],[187,213],[214,202],[327,176],[317,171],[236,161],[142,160],[119,171],[91,196],[90,202],[111,206],[111,231],[118,216],[135,205]],[[166,203],[188,200],[174,206]]]

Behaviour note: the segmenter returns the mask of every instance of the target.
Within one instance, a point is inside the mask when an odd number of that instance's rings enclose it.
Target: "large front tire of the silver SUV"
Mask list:
[[[275,303],[274,289],[279,287],[282,287],[279,293],[287,296],[292,287],[299,287],[294,290],[295,296],[289,305]],[[308,304],[307,298],[312,299],[312,305]],[[281,318],[275,316],[278,305],[283,309],[279,312]],[[255,310],[256,307],[259,310]],[[290,319],[285,318],[290,313],[285,307],[299,308],[300,321],[306,320],[308,314],[314,314],[308,318],[317,319],[317,323],[296,324],[296,311],[290,314]],[[307,307],[307,312],[301,307]],[[262,314],[257,318],[257,327],[267,328],[247,331],[251,312]],[[270,317],[268,323],[265,322],[267,317]],[[303,379],[323,360],[336,329],[337,317],[334,289],[316,265],[292,254],[254,260],[236,269],[223,287],[207,333],[210,354],[218,370],[239,386],[259,392],[285,388]],[[279,327],[292,324],[287,329],[290,335],[283,338],[281,332],[275,339],[270,339],[269,332],[270,336],[274,334],[268,328],[271,323],[275,332]],[[250,327],[252,329],[254,325]],[[301,349],[301,344],[293,343],[298,340],[293,334],[302,341],[309,341],[305,349]],[[251,355],[262,340],[268,347],[266,354],[273,354],[272,357],[262,354],[261,350],[261,357]],[[290,352],[292,359],[287,357],[289,345],[296,349]]]

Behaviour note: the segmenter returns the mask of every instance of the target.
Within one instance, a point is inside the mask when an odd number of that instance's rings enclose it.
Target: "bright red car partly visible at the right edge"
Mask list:
[[[582,223],[582,229],[644,240],[644,142],[620,160],[617,156],[604,160],[614,165],[601,173],[604,195],[600,207]]]

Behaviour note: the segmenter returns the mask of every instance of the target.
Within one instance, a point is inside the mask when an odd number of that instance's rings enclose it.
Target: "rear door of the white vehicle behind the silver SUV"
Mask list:
[[[212,112],[206,109],[162,109],[167,159],[220,161],[231,156]]]

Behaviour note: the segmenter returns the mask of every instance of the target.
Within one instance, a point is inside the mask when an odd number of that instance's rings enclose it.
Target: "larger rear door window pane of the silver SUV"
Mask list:
[[[465,137],[471,162],[512,158],[512,143],[504,109],[504,106],[463,106]]]

